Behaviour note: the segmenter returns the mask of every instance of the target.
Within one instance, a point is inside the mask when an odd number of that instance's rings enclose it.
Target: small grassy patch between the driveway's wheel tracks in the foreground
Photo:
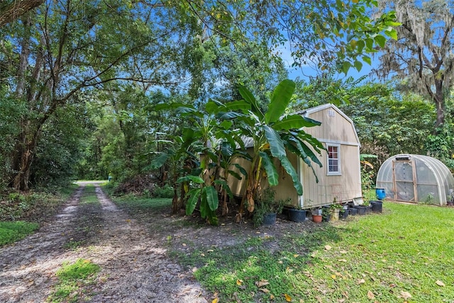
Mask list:
[[[100,270],[99,265],[85,259],[63,264],[56,272],[58,282],[47,301],[57,303],[89,300],[91,293],[88,288],[94,284]]]

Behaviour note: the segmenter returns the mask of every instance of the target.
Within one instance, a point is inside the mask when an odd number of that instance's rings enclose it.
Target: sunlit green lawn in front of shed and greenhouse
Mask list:
[[[385,202],[384,214],[310,232],[174,253],[223,302],[453,302],[453,216]]]

